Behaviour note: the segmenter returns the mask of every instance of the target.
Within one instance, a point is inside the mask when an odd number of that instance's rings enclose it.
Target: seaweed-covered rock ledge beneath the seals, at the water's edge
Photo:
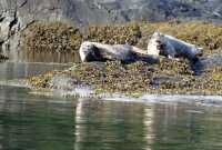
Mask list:
[[[123,64],[119,61],[78,63],[70,71],[33,77],[29,83],[37,88],[51,88],[50,80],[59,73],[94,87],[98,93],[222,94],[221,68],[196,77],[189,68],[189,62],[175,60],[162,60],[162,64]]]

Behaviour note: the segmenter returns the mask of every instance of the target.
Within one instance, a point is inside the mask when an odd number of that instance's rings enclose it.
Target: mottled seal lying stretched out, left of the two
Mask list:
[[[147,54],[145,50],[130,44],[103,44],[99,42],[82,42],[80,50],[82,62],[120,60],[131,62],[137,60],[155,61]]]

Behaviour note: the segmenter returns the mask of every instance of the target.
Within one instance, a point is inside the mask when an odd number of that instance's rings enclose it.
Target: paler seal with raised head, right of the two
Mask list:
[[[186,58],[195,61],[202,56],[202,48],[179,40],[172,36],[154,32],[148,43],[148,53],[152,56],[165,56],[167,58]]]

